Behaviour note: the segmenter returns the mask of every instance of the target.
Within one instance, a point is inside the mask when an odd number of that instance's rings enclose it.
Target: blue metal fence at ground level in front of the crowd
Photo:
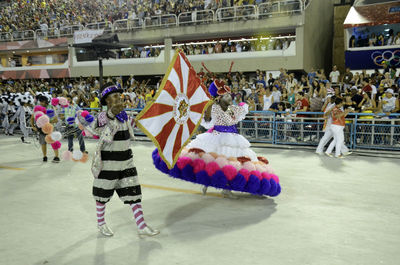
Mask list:
[[[140,111],[127,109],[133,117]],[[294,115],[253,111],[237,128],[252,143],[316,147],[324,135],[322,115],[322,112],[298,112]],[[145,136],[137,128],[135,134]],[[346,146],[353,150],[400,151],[400,114],[389,117],[377,114],[371,117],[371,114],[366,113],[350,113],[346,118],[344,135]]]

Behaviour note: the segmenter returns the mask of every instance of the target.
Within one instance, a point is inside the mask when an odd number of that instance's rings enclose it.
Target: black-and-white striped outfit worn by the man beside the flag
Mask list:
[[[98,118],[94,122],[95,126],[99,125]],[[117,119],[108,118],[107,124],[104,125],[112,128],[109,132],[113,132],[114,136],[111,135],[112,141],[99,143],[100,148],[97,155],[101,158],[102,166],[93,182],[93,196],[98,202],[108,202],[113,196],[114,190],[125,204],[141,202],[142,192],[130,148],[133,130],[128,122],[130,121],[120,122]],[[93,129],[97,132],[104,132],[100,127]]]

